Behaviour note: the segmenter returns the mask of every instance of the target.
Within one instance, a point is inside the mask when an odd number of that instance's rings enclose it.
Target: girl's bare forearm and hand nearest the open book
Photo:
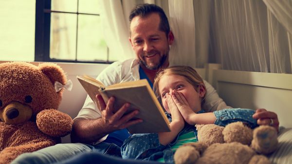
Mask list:
[[[168,108],[171,113],[171,123],[170,123],[170,132],[159,132],[159,142],[161,145],[167,145],[173,141],[180,131],[183,130],[184,127],[184,120],[183,116],[181,115],[178,107],[174,103],[173,99],[169,94],[166,94],[166,102],[168,105]]]

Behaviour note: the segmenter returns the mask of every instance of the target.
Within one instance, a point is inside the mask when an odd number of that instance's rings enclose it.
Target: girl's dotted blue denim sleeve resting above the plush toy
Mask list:
[[[216,116],[215,124],[219,126],[226,126],[232,122],[241,121],[246,123],[251,128],[256,128],[258,125],[256,119],[253,118],[255,110],[252,109],[223,109],[220,111],[214,111]]]

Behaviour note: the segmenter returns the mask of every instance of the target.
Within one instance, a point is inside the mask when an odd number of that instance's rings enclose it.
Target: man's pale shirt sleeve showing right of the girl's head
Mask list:
[[[204,84],[206,86],[206,96],[205,103],[203,104],[203,109],[206,112],[213,112],[231,108],[230,106],[226,105],[222,98],[219,97],[218,93],[211,84],[206,81],[204,81]]]

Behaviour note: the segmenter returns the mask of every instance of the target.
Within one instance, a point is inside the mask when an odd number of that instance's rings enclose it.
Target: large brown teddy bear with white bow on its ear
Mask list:
[[[71,132],[72,118],[56,110],[63,89],[56,91],[55,83],[66,82],[55,64],[0,64],[0,164],[60,143]]]

